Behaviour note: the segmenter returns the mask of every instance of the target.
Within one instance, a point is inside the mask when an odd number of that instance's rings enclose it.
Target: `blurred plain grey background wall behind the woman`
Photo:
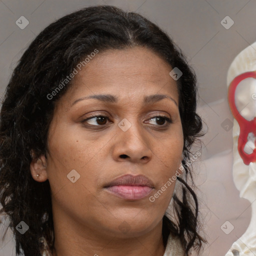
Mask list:
[[[194,167],[209,242],[203,255],[224,255],[245,231],[251,214],[249,202],[239,198],[232,181],[232,129],[224,130],[222,122],[232,122],[226,96],[228,66],[235,55],[256,40],[256,1],[0,0],[0,95],[25,47],[45,26],[93,4],[111,4],[143,14],[171,35],[194,68],[199,87],[198,112],[208,125],[202,138],[202,159]],[[229,29],[221,24],[227,15],[234,22]],[[15,24],[20,16],[29,21],[24,29]],[[220,228],[226,220],[234,225],[229,234]],[[0,255],[10,255],[10,238],[1,246]]]

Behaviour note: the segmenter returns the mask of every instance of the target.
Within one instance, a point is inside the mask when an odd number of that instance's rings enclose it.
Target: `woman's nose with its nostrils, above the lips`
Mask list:
[[[133,163],[147,163],[152,158],[151,147],[153,146],[153,137],[145,132],[136,120],[131,121],[131,126],[127,130],[116,128],[114,136],[113,158],[115,161],[130,161]]]

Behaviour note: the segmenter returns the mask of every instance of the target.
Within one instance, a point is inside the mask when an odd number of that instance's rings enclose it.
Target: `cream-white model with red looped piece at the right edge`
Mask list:
[[[243,49],[227,72],[233,115],[233,180],[251,203],[251,220],[225,256],[256,256],[256,42]]]

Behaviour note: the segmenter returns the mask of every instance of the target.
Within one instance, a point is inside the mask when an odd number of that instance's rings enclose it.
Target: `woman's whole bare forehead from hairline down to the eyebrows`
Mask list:
[[[177,100],[177,85],[169,75],[171,69],[146,47],[99,51],[78,70],[67,96],[75,100],[77,95],[105,92],[135,99],[142,94],[169,93]]]

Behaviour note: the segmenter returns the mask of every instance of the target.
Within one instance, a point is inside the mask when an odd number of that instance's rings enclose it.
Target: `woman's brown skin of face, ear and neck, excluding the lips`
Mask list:
[[[50,183],[58,256],[163,255],[162,217],[175,183],[154,202],[149,196],[181,162],[183,135],[171,69],[145,47],[99,51],[57,102],[46,158],[32,161],[30,170],[36,181]],[[98,94],[116,102],[85,98]],[[144,102],[153,94],[166,97]],[[126,131],[118,126],[124,118],[131,124]],[[74,183],[67,178],[72,169],[80,175]],[[153,189],[127,200],[104,188],[123,174],[145,175]]]

